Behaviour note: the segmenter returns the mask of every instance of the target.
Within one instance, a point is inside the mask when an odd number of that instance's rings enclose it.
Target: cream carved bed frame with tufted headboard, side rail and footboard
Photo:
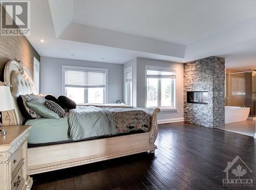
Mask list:
[[[32,76],[21,62],[9,61],[5,66],[4,80],[4,85],[11,87],[14,110],[2,112],[3,125],[21,125],[24,118],[19,111],[16,98],[19,95],[37,94]],[[29,148],[29,175],[145,151],[154,153],[157,149],[154,145],[158,133],[157,114],[160,110],[145,108],[144,111],[152,116],[150,131],[145,133]]]

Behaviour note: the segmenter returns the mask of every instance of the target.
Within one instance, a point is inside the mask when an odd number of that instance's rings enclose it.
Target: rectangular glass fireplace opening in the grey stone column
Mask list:
[[[187,103],[208,104],[208,91],[187,91]]]

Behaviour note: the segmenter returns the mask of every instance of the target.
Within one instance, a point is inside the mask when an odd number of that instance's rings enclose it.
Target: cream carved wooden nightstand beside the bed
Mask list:
[[[0,189],[30,189],[27,143],[31,126],[5,126],[6,135],[0,136]]]

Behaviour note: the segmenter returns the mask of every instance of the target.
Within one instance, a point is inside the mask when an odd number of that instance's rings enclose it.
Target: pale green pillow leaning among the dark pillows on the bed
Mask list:
[[[38,100],[32,100],[27,102],[28,106],[38,115],[49,118],[49,119],[59,119],[59,115],[55,112],[51,111],[48,107],[44,105],[44,103]]]

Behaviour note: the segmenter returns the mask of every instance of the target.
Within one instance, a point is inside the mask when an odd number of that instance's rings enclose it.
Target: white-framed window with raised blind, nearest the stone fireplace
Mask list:
[[[146,67],[146,107],[175,108],[176,72]]]

